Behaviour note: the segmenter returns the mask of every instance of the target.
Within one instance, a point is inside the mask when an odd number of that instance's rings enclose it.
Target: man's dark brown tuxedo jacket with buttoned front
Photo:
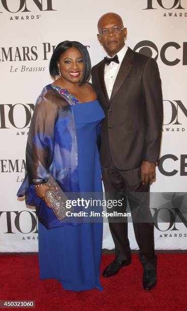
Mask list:
[[[100,161],[110,159],[120,170],[142,161],[158,162],[162,136],[163,102],[157,62],[128,48],[110,99],[104,83],[104,60],[92,68],[92,83],[105,112],[101,125]]]

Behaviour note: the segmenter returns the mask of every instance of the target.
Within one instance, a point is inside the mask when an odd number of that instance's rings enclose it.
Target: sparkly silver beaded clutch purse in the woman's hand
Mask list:
[[[59,184],[53,178],[52,175],[50,175],[47,185],[56,188],[55,191],[47,191],[46,197],[57,219],[59,221],[62,221],[66,217],[66,212],[67,211],[73,212],[74,208],[72,206],[68,209],[66,208],[66,200],[68,200],[68,198],[66,197],[66,195],[64,194]]]

